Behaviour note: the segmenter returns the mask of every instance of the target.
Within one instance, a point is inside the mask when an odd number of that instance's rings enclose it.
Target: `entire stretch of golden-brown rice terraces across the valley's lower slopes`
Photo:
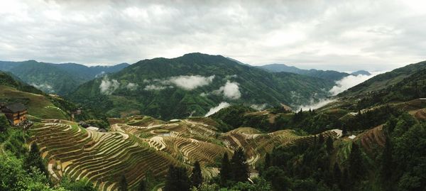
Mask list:
[[[165,122],[136,116],[111,121],[107,133],[64,120],[43,121],[29,131],[31,141],[39,144],[42,157],[48,160],[53,178],[87,178],[99,190],[115,190],[121,175],[135,187],[148,171],[163,178],[168,165],[189,169],[195,161],[200,161],[204,178],[212,178],[219,173],[222,155],[231,155],[235,148],[244,148],[254,167],[275,146],[314,140],[314,136],[297,136],[291,130],[261,133],[239,128],[219,133],[212,121],[202,119]],[[326,137],[341,134],[339,130],[323,133]]]

